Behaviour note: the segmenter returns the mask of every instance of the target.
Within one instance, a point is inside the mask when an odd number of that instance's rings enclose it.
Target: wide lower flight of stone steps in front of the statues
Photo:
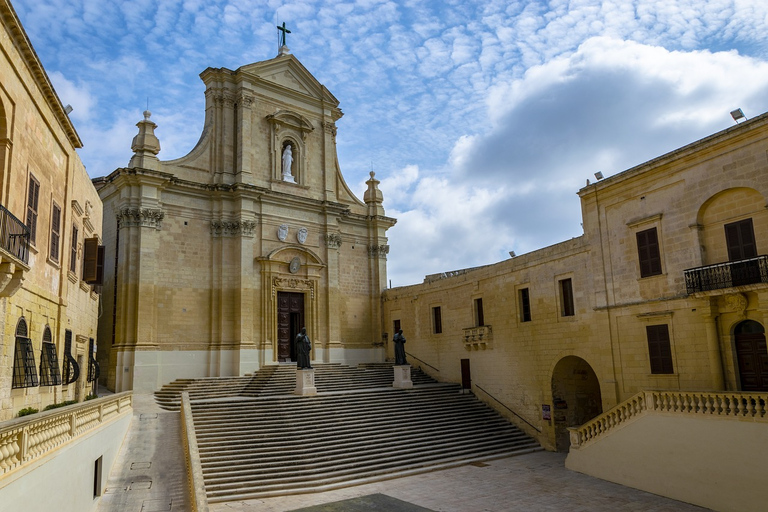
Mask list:
[[[395,389],[391,365],[335,366],[326,369],[329,391],[316,372],[316,396],[270,394],[283,384],[259,381],[257,396],[191,401],[210,502],[319,492],[542,449],[458,385],[425,376],[413,389]],[[386,387],[369,372],[386,373]],[[361,385],[369,379],[378,387]]]

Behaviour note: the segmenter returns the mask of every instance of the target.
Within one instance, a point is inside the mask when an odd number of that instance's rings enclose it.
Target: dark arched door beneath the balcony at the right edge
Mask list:
[[[742,391],[768,391],[768,350],[765,328],[745,320],[733,330]]]

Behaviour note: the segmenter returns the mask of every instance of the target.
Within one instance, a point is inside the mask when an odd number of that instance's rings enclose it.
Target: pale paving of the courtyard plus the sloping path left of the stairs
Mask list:
[[[582,475],[565,455],[536,452],[443,471],[279,498],[213,503],[211,512],[686,512],[700,507]],[[134,417],[99,512],[182,512],[186,502],[179,414],[134,396]]]

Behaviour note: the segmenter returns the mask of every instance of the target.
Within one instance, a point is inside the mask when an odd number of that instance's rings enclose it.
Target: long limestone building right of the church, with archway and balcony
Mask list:
[[[560,450],[643,390],[766,392],[767,150],[763,114],[587,185],[582,236],[386,290],[387,330]]]

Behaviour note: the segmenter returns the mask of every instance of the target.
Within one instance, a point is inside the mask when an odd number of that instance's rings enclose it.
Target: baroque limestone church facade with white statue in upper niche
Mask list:
[[[192,151],[160,161],[145,113],[127,168],[94,180],[104,202],[100,357],[117,391],[242,375],[295,358],[384,358],[382,194],[364,202],[336,157],[338,100],[283,46],[237,70],[208,68]],[[101,349],[104,349],[103,351]]]

